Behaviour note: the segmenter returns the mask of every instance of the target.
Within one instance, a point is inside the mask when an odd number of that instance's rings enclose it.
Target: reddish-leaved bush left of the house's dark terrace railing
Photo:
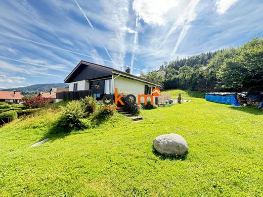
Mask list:
[[[33,98],[25,98],[23,99],[23,102],[26,109],[35,109],[35,108],[42,108],[51,103],[54,103],[54,100],[52,98],[33,97]]]

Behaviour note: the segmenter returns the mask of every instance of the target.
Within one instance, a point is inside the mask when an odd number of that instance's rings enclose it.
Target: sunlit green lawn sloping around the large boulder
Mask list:
[[[52,135],[56,107],[15,120],[0,129],[0,196],[262,196],[263,111],[190,99],[69,135]],[[185,160],[153,153],[166,133],[186,139]]]

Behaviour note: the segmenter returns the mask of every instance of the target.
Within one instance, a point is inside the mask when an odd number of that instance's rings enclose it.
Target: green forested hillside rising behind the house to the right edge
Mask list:
[[[238,48],[164,62],[158,72],[141,76],[162,82],[165,89],[263,91],[263,38]]]

